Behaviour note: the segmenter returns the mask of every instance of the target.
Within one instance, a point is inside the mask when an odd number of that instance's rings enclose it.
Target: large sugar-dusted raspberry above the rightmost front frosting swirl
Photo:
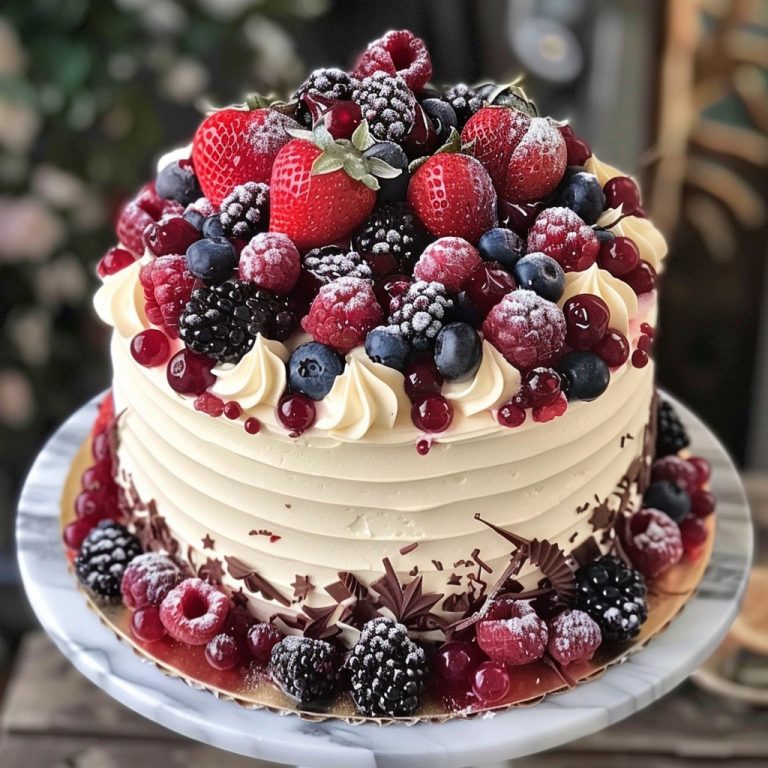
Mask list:
[[[483,334],[516,368],[544,365],[565,341],[562,310],[533,291],[512,291],[488,313]]]

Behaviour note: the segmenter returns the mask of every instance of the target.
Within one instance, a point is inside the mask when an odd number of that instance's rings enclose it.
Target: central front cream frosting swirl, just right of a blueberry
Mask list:
[[[363,347],[353,349],[346,360],[344,372],[321,401],[315,427],[347,440],[357,440],[370,429],[392,429],[409,408],[403,374],[374,363]]]

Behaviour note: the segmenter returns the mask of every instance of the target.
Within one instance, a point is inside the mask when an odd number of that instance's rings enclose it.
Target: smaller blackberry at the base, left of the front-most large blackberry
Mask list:
[[[299,704],[329,698],[335,691],[339,660],[330,643],[288,635],[272,648],[268,671]]]

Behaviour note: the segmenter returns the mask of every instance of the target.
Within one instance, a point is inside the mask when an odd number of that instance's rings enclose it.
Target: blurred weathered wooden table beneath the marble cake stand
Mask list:
[[[768,477],[746,478],[768,559]],[[768,709],[685,683],[634,717],[524,768],[768,766]],[[202,746],[125,709],[95,688],[42,633],[22,645],[0,719],[0,768],[278,768]]]

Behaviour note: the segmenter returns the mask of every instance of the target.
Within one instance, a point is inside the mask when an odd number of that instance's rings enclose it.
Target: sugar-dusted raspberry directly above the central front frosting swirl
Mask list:
[[[320,288],[301,327],[315,341],[346,354],[383,320],[371,284],[359,277],[342,277]]]

